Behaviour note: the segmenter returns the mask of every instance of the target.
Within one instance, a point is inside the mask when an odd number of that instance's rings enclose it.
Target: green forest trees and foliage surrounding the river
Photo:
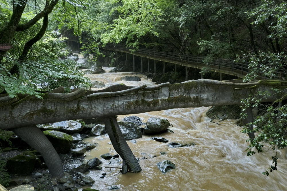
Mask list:
[[[56,29],[90,40],[84,47],[95,53],[98,44],[115,43],[206,56],[207,64],[213,58],[247,61],[251,72],[245,81],[259,75],[273,79],[278,70],[287,73],[283,0],[0,0],[0,44],[13,47],[0,51],[0,92],[40,98],[41,92],[57,86],[67,91],[87,86],[75,62],[58,59],[66,44],[51,33]],[[243,110],[257,107],[262,96],[259,92],[243,100]],[[263,151],[263,143],[274,150],[287,146],[287,111],[281,104],[285,96],[262,105],[249,155],[254,148]],[[277,164],[276,153],[271,159]]]

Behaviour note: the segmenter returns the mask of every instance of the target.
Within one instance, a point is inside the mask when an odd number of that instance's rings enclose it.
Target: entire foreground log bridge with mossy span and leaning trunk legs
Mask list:
[[[276,92],[274,87],[280,91]],[[14,131],[41,153],[52,176],[62,176],[64,172],[59,155],[36,125],[69,119],[100,118],[106,125],[113,147],[123,159],[122,173],[139,172],[139,163],[123,138],[115,115],[234,105],[240,104],[249,94],[254,95],[259,91],[269,94],[262,98],[262,102],[287,99],[287,82],[260,80],[241,84],[199,79],[156,86],[132,87],[118,84],[97,91],[80,88],[67,94],[63,93],[63,88],[57,88],[44,93],[42,99],[29,95],[10,98],[7,94],[1,94],[0,128]],[[245,123],[251,120],[252,115]]]

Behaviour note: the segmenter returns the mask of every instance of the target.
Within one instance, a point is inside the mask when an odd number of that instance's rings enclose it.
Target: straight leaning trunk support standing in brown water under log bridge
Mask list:
[[[123,159],[123,167],[121,171],[122,174],[127,173],[127,171],[140,172],[141,167],[139,166],[137,159],[133,155],[133,152],[129,148],[129,145],[127,145],[127,142],[119,128],[119,124],[116,117],[105,117],[104,123],[108,136],[110,137],[110,141],[113,144],[113,147]]]

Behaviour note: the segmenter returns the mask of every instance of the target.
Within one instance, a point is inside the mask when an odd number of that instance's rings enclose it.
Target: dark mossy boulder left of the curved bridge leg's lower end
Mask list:
[[[6,163],[6,169],[11,174],[30,175],[34,168],[40,165],[40,159],[32,151],[26,151],[10,158]]]

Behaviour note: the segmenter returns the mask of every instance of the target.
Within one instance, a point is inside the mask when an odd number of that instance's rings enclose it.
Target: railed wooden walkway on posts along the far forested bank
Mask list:
[[[68,41],[78,42],[78,40],[69,39]],[[88,42],[88,40],[83,40],[82,42]],[[69,44],[69,43],[68,43]],[[77,44],[79,47],[79,44]],[[115,51],[117,54],[116,62],[118,65],[118,52],[126,53],[126,60],[128,60],[127,54],[133,55],[133,71],[135,71],[135,56],[141,57],[141,72],[144,72],[144,63],[143,58],[147,58],[148,72],[150,72],[150,59],[154,60],[154,74],[156,74],[156,60],[161,61],[163,64],[163,73],[165,73],[165,64],[166,62],[174,64],[174,72],[177,72],[177,65],[185,66],[185,80],[188,79],[188,68],[203,68],[208,66],[210,71],[219,72],[220,80],[222,80],[222,73],[237,76],[239,78],[244,78],[246,74],[251,72],[251,69],[248,68],[249,62],[239,63],[234,62],[233,60],[224,59],[224,58],[214,58],[211,62],[206,64],[204,62],[205,57],[195,56],[195,55],[183,55],[179,53],[171,53],[158,51],[147,48],[138,48],[136,50],[131,48],[126,48],[122,45],[115,44],[106,44],[106,46],[101,47],[102,49]],[[259,69],[259,67],[258,67]],[[261,72],[263,74],[263,72]],[[283,71],[276,71],[275,78],[283,79]],[[201,78],[203,78],[201,74]],[[259,79],[265,79],[265,77],[260,76]]]

